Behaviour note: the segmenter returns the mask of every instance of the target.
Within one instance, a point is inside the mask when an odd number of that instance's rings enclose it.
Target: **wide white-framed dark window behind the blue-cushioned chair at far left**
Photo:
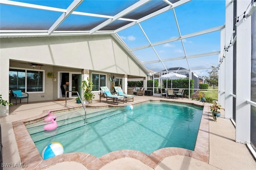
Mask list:
[[[10,69],[9,89],[22,89],[26,92],[43,92],[44,71]]]

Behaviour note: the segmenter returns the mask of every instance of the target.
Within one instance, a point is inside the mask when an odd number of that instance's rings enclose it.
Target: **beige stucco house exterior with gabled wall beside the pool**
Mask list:
[[[81,94],[81,82],[87,77],[94,83],[95,99],[100,86],[110,88],[113,76],[125,92],[129,76],[143,78],[146,87],[147,69],[116,34],[1,38],[0,51],[0,94],[5,100],[9,100],[10,88],[28,92],[28,102],[64,98],[63,85]],[[48,78],[48,72],[54,76]],[[1,116],[8,115],[8,106],[0,106],[0,111]]]

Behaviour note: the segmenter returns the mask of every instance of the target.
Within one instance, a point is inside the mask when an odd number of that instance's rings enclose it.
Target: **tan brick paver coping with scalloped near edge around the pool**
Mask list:
[[[151,99],[148,101],[166,101],[166,100]],[[144,103],[144,102],[147,102],[147,101],[143,101],[141,103]],[[134,105],[141,104],[141,103],[136,103]],[[183,103],[183,102],[178,102],[178,103]],[[34,144],[32,138],[30,137],[30,134],[28,133],[28,130],[25,127],[25,124],[28,122],[33,123],[34,120],[44,119],[44,117],[47,116],[48,111],[43,111],[41,115],[38,115],[36,117],[12,122],[12,126],[14,130],[14,135],[16,138],[21,162],[23,164],[26,163],[28,165],[28,167],[24,167],[24,169],[40,169],[41,170],[41,169],[53,166],[60,162],[78,162],[80,164],[83,164],[89,170],[94,170],[94,169],[100,169],[104,165],[109,164],[110,162],[120,158],[134,158],[148,165],[151,168],[155,168],[164,158],[169,156],[174,156],[174,155],[188,156],[188,157],[195,158],[197,160],[209,163],[209,119],[210,119],[209,107],[206,105],[206,103],[194,103],[192,101],[184,102],[184,103],[204,107],[194,151],[184,149],[184,148],[174,148],[174,147],[161,148],[159,150],[152,152],[151,154],[146,154],[137,150],[118,150],[118,151],[110,152],[108,154],[100,156],[99,158],[87,153],[73,152],[73,153],[66,153],[66,154],[54,156],[52,158],[43,160],[41,154],[38,152],[36,148],[36,145]],[[100,106],[100,108],[102,107],[105,107],[105,106]],[[122,108],[125,106],[120,106],[120,107]],[[80,107],[67,107],[67,109],[76,109],[76,108],[80,109]],[[58,112],[60,110],[63,110],[63,109],[56,109],[53,111]]]

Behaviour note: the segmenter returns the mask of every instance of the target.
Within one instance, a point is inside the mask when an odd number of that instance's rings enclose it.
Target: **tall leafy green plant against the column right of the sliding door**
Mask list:
[[[93,83],[90,82],[90,78],[87,77],[87,81],[82,81],[82,89],[84,91],[84,100],[86,103],[92,103],[92,99],[94,99],[95,95],[92,93]]]

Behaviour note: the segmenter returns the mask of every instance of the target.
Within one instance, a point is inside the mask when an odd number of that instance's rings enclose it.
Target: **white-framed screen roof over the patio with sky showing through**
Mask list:
[[[218,65],[224,0],[0,0],[0,38],[111,34],[153,71]]]

